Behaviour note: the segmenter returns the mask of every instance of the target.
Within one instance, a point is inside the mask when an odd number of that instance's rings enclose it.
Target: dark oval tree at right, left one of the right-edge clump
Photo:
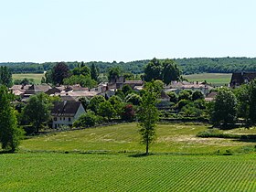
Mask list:
[[[237,118],[237,99],[232,91],[226,88],[219,89],[214,102],[211,121],[214,125],[233,124]]]

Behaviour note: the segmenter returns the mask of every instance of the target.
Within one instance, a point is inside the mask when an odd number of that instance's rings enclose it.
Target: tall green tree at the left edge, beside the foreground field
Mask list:
[[[16,112],[11,107],[10,98],[5,86],[0,86],[0,143],[6,151],[15,152],[23,132],[17,127]]]

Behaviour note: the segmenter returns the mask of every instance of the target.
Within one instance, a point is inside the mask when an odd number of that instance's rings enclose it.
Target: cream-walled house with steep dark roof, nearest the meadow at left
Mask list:
[[[52,128],[71,126],[85,110],[80,101],[56,101],[51,110]]]

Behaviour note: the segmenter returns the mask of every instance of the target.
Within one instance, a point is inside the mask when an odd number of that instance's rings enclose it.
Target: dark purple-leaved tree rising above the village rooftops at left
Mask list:
[[[66,65],[64,62],[57,63],[57,65],[53,67],[51,72],[51,79],[53,84],[55,85],[63,84],[63,80],[65,78],[69,78],[69,76],[69,66]]]

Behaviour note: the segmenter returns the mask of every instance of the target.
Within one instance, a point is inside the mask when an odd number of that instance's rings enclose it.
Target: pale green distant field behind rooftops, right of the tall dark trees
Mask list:
[[[228,85],[231,80],[231,73],[200,73],[193,75],[185,75],[184,77],[189,81],[204,81],[215,86]]]

